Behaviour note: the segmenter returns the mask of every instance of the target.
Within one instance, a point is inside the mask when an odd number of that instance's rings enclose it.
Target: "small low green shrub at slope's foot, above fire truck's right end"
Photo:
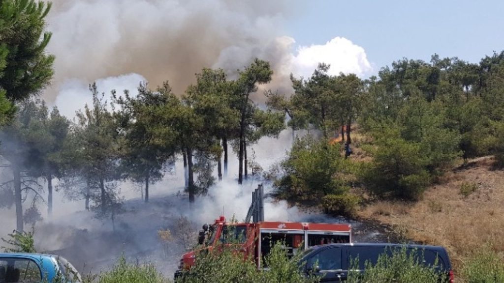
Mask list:
[[[329,194],[322,198],[322,207],[328,214],[352,216],[361,201],[360,196],[351,193]]]

